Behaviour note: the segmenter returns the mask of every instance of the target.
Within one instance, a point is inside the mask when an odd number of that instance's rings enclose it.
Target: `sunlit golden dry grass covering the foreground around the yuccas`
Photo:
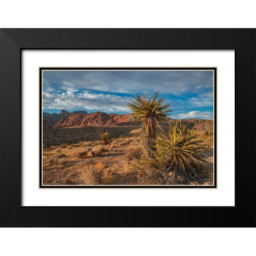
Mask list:
[[[68,131],[68,129],[63,130]],[[77,131],[79,129],[73,128],[72,130]],[[52,129],[52,131],[55,130]],[[134,158],[140,157],[141,151],[140,139],[135,134],[134,136],[132,134],[130,138],[124,135],[122,139],[119,138],[121,134],[113,134],[114,138],[106,146],[102,146],[101,141],[96,139],[92,142],[92,139],[86,141],[81,138],[69,147],[44,148],[43,183],[45,185],[213,184],[213,150],[209,153],[210,164],[196,164],[194,166],[194,179],[189,181],[182,180],[174,173],[154,172],[147,167],[144,170],[135,169],[132,164]],[[131,135],[130,132],[129,135]],[[97,139],[98,136],[99,134],[97,134]],[[198,133],[199,136],[205,136],[207,139],[211,138],[212,135],[201,132]],[[82,142],[78,143],[79,141],[83,141],[83,144]],[[210,146],[213,145],[210,140],[206,141]]]

